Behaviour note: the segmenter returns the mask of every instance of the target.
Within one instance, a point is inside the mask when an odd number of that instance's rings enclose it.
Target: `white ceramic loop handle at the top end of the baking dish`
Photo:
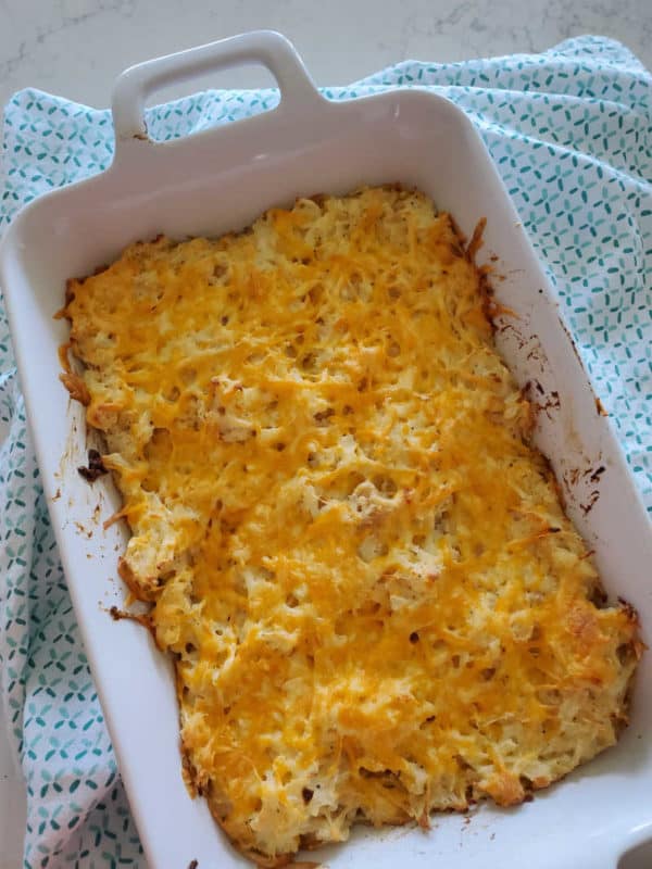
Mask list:
[[[246,63],[265,66],[278,83],[281,103],[293,111],[325,102],[292,43],[274,30],[253,30],[125,70],[113,89],[116,152],[122,142],[148,138],[145,101],[152,91]]]

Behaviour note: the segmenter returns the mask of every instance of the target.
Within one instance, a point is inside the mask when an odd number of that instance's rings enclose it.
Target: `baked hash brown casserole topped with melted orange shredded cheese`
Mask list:
[[[627,720],[636,614],[604,606],[487,302],[450,216],[396,187],[68,282],[64,377],[187,780],[261,865],[521,803]]]

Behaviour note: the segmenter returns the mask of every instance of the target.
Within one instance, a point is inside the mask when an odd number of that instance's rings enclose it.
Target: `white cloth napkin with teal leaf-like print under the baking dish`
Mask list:
[[[427,87],[478,126],[548,269],[652,509],[652,77],[599,38],[542,54],[408,61],[335,100]],[[158,139],[269,108],[209,91],[151,110]],[[111,116],[35,90],[4,113],[0,229],[25,203],[105,168]],[[26,869],[145,866],[72,610],[0,308],[0,687],[28,790]]]

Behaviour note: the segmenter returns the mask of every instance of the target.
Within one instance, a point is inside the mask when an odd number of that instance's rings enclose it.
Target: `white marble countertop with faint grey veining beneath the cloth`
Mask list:
[[[319,85],[409,58],[541,51],[586,33],[619,39],[652,68],[652,0],[193,0],[183,11],[179,0],[0,0],[0,104],[36,87],[105,106],[126,66],[260,27],[286,34]],[[266,83],[244,70],[195,89]],[[0,869],[21,866],[23,828],[24,788],[0,715]],[[620,869],[650,866],[648,849]]]

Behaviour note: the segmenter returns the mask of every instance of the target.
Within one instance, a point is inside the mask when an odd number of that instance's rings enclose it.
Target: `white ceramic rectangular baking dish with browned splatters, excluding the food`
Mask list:
[[[146,97],[218,67],[266,66],[280,103],[256,117],[166,143],[148,138]],[[149,864],[155,869],[246,861],[191,801],[180,776],[173,679],[149,633],[108,615],[125,530],[103,530],[117,506],[110,482],[77,474],[89,445],[83,408],[58,376],[67,326],[52,315],[65,279],[86,275],[137,239],[218,235],[298,194],[343,193],[401,181],[450,210],[469,235],[487,218],[480,263],[492,256],[498,301],[514,315],[498,343],[538,414],[537,442],[552,461],[568,512],[595,551],[612,596],[652,625],[652,538],[635,484],[517,214],[463,112],[426,91],[394,90],[334,103],[315,89],[290,43],[261,32],[143,63],[117,80],[112,166],[42,197],[7,232],[0,276],[42,482],[92,672]],[[494,257],[498,257],[496,260]],[[471,820],[435,817],[432,830],[358,830],[310,859],[336,867],[614,869],[652,836],[651,655],[643,656],[631,725],[619,744],[513,810]]]

